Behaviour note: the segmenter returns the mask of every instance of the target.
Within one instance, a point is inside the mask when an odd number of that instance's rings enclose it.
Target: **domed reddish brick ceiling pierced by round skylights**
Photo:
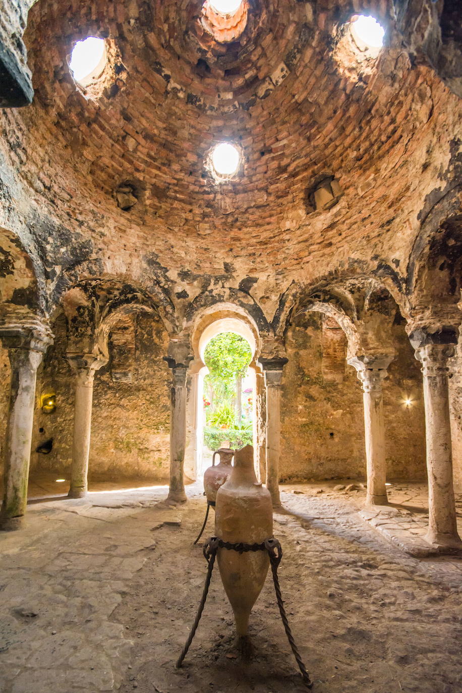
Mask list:
[[[357,49],[357,7],[247,0],[229,19],[200,0],[39,0],[24,35],[35,100],[3,115],[28,204],[113,272],[142,262],[278,286],[372,256],[399,265],[453,175],[460,109],[411,66],[388,3],[368,10],[387,32],[378,57]],[[107,40],[109,61],[84,91],[68,62],[87,36]],[[217,181],[221,141],[242,167]],[[316,209],[326,178],[343,194]],[[120,191],[135,204],[121,209]]]

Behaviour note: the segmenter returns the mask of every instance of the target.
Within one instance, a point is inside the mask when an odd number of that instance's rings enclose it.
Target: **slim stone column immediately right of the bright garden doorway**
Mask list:
[[[266,486],[273,507],[281,507],[279,458],[281,457],[281,384],[287,358],[259,358],[266,386]]]

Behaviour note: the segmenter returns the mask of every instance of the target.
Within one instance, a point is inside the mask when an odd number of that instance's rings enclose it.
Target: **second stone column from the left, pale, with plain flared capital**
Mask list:
[[[67,360],[76,372],[71,488],[67,495],[69,498],[85,498],[88,491],[93,382],[95,372],[104,366],[107,360],[92,354],[69,353]]]

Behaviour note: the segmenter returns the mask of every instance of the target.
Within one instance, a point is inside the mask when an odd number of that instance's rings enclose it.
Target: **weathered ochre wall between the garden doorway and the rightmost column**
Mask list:
[[[353,367],[343,379],[323,377],[323,319],[294,319],[286,339],[283,376],[281,477],[364,478],[362,389]],[[393,326],[398,351],[384,381],[387,464],[391,479],[425,478],[425,419],[421,376],[404,326]],[[338,358],[344,358],[337,343]],[[332,370],[332,351],[329,353]],[[339,362],[339,371],[341,363]],[[413,398],[411,407],[402,404]],[[331,435],[333,434],[333,435]]]

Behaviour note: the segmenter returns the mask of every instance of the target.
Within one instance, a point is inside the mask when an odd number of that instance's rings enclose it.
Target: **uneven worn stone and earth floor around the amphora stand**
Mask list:
[[[288,512],[274,523],[281,588],[314,691],[459,693],[462,561],[402,553],[360,518],[360,491],[285,489]],[[154,487],[32,502],[26,529],[0,535],[1,693],[305,690],[269,577],[251,616],[250,662],[234,649],[216,572],[175,670],[206,572],[193,545],[205,502],[197,485],[187,505],[154,507],[165,495]]]

